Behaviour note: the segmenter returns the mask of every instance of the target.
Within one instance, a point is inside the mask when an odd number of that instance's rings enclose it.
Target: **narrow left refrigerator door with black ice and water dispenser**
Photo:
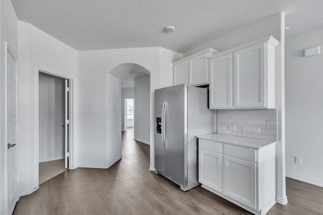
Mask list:
[[[165,102],[165,89],[155,90],[155,117],[154,117],[154,152],[155,152],[155,170],[165,175],[165,148],[161,141],[163,130],[157,124],[161,122],[161,111]],[[158,131],[158,132],[157,132]],[[159,133],[160,132],[160,133]]]

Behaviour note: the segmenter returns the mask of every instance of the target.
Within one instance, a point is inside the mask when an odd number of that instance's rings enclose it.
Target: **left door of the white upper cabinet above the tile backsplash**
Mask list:
[[[209,60],[209,108],[232,107],[232,53]]]

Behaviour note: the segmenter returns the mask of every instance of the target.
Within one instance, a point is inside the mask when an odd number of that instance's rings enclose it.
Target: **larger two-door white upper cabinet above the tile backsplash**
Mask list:
[[[210,109],[276,108],[272,36],[208,57]]]

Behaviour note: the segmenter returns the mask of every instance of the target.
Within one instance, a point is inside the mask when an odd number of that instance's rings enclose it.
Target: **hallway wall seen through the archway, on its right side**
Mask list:
[[[150,145],[150,76],[135,79],[134,139]]]

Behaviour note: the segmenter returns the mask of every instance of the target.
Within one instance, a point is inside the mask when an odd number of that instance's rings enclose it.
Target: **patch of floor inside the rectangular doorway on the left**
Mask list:
[[[65,159],[41,162],[39,163],[39,184],[42,184],[65,171],[67,171],[67,169],[65,169]]]

